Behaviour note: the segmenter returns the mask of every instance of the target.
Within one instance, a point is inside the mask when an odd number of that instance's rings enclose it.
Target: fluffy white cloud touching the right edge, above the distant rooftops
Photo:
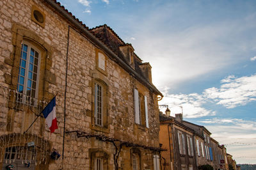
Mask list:
[[[223,84],[220,88],[205,89],[205,98],[229,109],[256,101],[256,74],[240,78],[230,75],[221,80],[221,83]]]

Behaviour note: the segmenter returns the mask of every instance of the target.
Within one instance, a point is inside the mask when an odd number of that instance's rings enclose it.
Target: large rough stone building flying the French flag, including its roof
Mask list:
[[[4,0],[0,9],[0,166],[160,169],[163,95],[132,45],[56,1]],[[54,96],[51,134],[40,112]]]

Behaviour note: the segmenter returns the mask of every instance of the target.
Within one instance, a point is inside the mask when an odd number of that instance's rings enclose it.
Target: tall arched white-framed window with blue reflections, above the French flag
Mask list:
[[[22,43],[17,91],[28,97],[37,97],[40,52],[28,42]]]

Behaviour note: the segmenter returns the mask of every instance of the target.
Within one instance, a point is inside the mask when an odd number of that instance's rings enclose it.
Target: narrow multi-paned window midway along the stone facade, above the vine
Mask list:
[[[102,102],[102,86],[95,83],[95,124],[96,125],[103,125],[103,102]]]

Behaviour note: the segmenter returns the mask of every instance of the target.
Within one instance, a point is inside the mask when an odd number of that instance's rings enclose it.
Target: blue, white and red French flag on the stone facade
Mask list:
[[[46,120],[47,126],[50,128],[51,133],[58,128],[56,119],[56,97],[52,98],[51,102],[42,111]]]

